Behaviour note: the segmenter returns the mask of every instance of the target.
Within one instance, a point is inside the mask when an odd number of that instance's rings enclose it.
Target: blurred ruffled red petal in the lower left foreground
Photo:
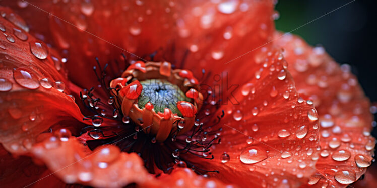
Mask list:
[[[34,155],[66,183],[95,187],[121,187],[153,180],[136,153],[120,152],[114,145],[90,151],[75,137],[60,141],[50,137],[36,144]]]

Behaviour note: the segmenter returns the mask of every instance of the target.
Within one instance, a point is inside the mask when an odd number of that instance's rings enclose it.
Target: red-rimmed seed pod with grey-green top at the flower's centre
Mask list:
[[[191,130],[203,101],[193,74],[168,62],[136,61],[110,87],[123,115],[159,142]]]

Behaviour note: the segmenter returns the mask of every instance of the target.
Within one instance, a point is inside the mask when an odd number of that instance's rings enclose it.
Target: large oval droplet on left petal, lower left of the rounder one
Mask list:
[[[39,87],[38,79],[27,69],[18,68],[13,70],[13,77],[18,84],[28,89],[37,89]]]

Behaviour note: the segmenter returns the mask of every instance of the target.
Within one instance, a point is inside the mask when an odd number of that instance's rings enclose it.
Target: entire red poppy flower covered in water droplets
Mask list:
[[[6,187],[345,187],[371,163],[349,66],[275,33],[273,1],[4,6]]]

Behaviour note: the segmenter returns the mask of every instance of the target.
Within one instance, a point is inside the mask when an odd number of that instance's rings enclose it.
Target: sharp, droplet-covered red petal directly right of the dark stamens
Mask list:
[[[225,116],[221,143],[211,150],[215,158],[190,162],[219,171],[209,175],[225,183],[298,187],[316,172],[317,112],[298,95],[280,51],[266,54],[266,61],[248,67],[254,78],[236,90],[239,104],[221,107]]]

